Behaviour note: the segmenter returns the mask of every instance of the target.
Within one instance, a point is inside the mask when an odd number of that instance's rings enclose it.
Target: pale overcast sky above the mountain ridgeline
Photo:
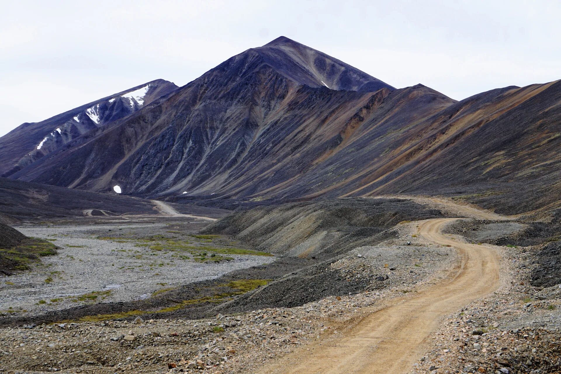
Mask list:
[[[185,85],[280,35],[458,100],[561,79],[560,1],[268,3],[3,2],[0,136],[154,79]]]

